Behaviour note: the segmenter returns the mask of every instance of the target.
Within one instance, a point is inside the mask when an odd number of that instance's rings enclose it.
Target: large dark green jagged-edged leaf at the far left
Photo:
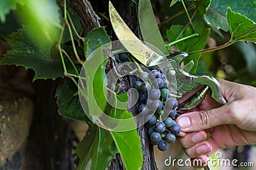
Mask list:
[[[64,76],[60,57],[50,55],[54,42],[44,39],[42,43],[35,43],[30,26],[24,26],[18,32],[3,36],[3,38],[10,43],[12,50],[8,51],[0,60],[0,65],[15,64],[33,69],[35,71],[34,80],[55,79]],[[70,71],[70,73],[74,72]]]

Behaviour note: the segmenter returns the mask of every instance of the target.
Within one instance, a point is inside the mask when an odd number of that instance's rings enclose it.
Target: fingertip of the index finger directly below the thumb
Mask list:
[[[200,143],[204,141],[207,134],[205,131],[200,132],[191,132],[186,134],[183,138],[179,138],[179,142],[183,148],[190,148],[191,146],[196,145],[196,143]]]

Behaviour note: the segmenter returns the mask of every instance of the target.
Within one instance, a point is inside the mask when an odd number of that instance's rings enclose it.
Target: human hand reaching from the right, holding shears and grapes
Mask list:
[[[177,118],[185,153],[202,162],[220,148],[256,143],[256,88],[218,81],[227,104],[220,106],[208,93],[193,112]],[[211,137],[205,140],[207,133]]]

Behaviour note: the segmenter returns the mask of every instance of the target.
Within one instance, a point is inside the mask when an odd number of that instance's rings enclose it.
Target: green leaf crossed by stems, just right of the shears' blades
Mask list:
[[[195,22],[194,27],[195,27],[196,33],[198,33],[199,36],[189,38],[184,41],[180,41],[179,43],[176,43],[175,46],[180,51],[189,53],[189,52],[195,52],[195,51],[204,49],[206,41],[209,37],[210,29],[205,28],[204,23],[202,22]],[[182,25],[172,25],[172,27],[170,27],[170,30],[166,31],[167,38],[169,39],[169,41],[170,42],[175,41],[175,39],[179,35],[180,31],[182,31],[182,29],[183,29]],[[180,38],[184,38],[191,34],[193,34],[193,29],[191,27],[188,27],[186,28],[182,36],[180,36]],[[196,67],[198,65],[199,58],[200,58],[200,54],[195,54],[195,55],[189,55],[188,58],[185,60],[185,64],[187,64],[191,60],[194,61],[195,66],[191,70],[191,73],[196,72]]]

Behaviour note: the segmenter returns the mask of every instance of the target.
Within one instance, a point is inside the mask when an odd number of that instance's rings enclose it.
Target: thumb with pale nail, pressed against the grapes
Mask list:
[[[182,132],[203,131],[223,124],[239,124],[241,119],[234,114],[234,103],[236,101],[212,110],[184,113],[177,118],[177,124]]]

